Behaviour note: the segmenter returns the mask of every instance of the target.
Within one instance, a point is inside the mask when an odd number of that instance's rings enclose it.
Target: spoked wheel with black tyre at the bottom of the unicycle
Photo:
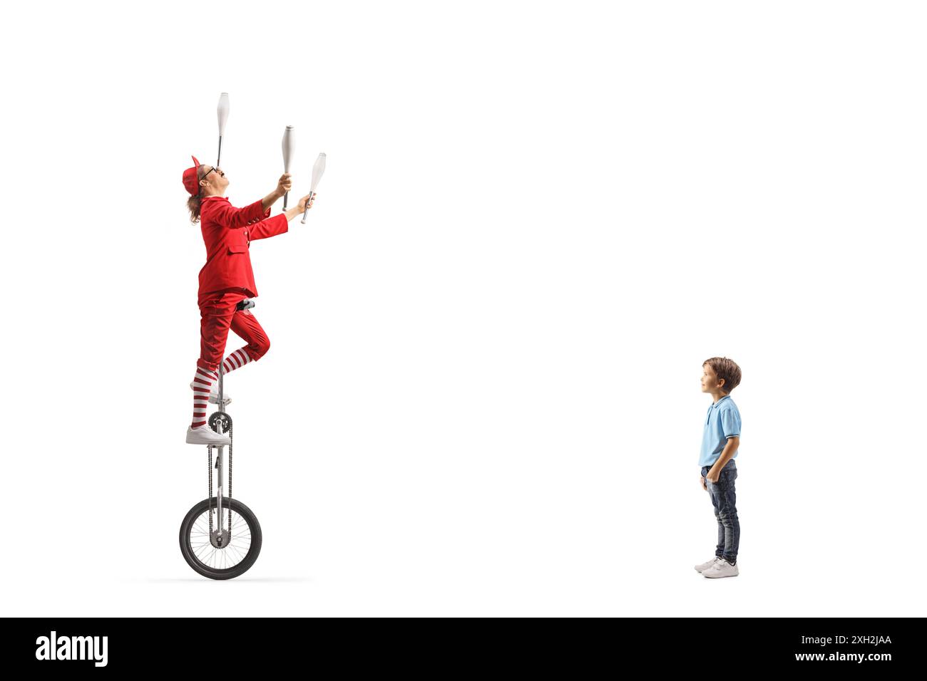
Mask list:
[[[222,519],[216,515],[216,505],[215,497],[207,498],[187,512],[180,525],[180,551],[187,564],[204,577],[231,579],[248,571],[258,560],[260,523],[238,499],[222,499]],[[229,510],[231,536],[228,536]]]

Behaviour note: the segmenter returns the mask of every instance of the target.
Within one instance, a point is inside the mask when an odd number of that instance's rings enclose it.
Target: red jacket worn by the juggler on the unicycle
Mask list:
[[[269,218],[271,209],[261,210],[255,201],[235,208],[225,196],[206,196],[199,209],[206,264],[199,271],[199,296],[241,286],[248,297],[258,295],[251,271],[249,244],[254,239],[282,234],[289,229],[286,215]]]

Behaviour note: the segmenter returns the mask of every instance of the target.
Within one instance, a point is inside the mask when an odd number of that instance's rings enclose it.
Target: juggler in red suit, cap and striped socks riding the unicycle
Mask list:
[[[219,362],[222,373],[233,372],[263,357],[271,347],[267,335],[250,310],[236,309],[239,301],[258,296],[251,271],[250,244],[256,239],[286,233],[289,221],[311,208],[315,195],[306,195],[297,206],[270,217],[271,206],[290,188],[289,173],[281,176],[277,188],[260,201],[235,208],[222,195],[229,181],[222,169],[200,164],[184,170],[184,187],[190,193],[187,208],[191,220],[198,217],[206,245],[206,264],[199,271],[199,359],[190,387],[194,391],[193,420],[186,441],[195,445],[229,444],[226,435],[215,433],[206,422],[207,401],[218,403]],[[246,343],[225,359],[229,329]],[[222,391],[225,403],[231,401]]]

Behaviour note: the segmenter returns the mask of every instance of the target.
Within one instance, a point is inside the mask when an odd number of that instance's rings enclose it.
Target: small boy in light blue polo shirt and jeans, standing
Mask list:
[[[737,547],[741,524],[734,505],[734,480],[737,479],[737,448],[741,444],[741,412],[730,398],[730,391],[741,382],[741,368],[726,357],[705,359],[702,364],[702,392],[714,397],[705,418],[702,435],[702,489],[707,490],[717,518],[715,558],[696,565],[705,577],[736,577]]]

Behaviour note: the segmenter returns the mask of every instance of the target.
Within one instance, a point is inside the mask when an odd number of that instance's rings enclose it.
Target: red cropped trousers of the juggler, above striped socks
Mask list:
[[[235,309],[248,297],[243,288],[229,288],[199,296],[199,359],[197,367],[219,371],[225,353],[229,329],[248,345],[245,352],[251,359],[260,359],[271,347],[267,335],[250,309]]]

